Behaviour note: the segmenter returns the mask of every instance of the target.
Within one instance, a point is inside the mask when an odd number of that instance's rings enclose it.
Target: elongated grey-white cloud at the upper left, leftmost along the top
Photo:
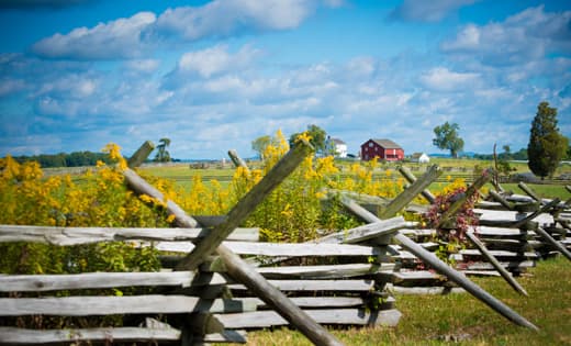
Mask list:
[[[78,27],[68,34],[55,34],[32,46],[32,51],[47,58],[116,59],[139,56],[144,51],[141,33],[153,24],[153,12],[139,12],[100,23],[92,29]]]

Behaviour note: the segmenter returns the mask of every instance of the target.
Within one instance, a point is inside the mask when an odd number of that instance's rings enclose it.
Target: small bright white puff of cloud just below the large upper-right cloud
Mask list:
[[[421,76],[421,82],[429,89],[438,91],[463,91],[474,88],[480,75],[474,72],[455,72],[446,67],[436,67]]]

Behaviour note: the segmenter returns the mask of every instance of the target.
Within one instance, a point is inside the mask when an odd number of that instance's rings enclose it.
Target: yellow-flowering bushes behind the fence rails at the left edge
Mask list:
[[[126,189],[121,174],[125,161],[119,156],[119,147],[109,145],[105,150],[109,158],[116,163],[114,166],[100,161],[98,168],[74,178],[69,175],[44,178],[37,163],[19,164],[10,156],[0,159],[0,224],[168,226],[160,208],[149,209]],[[124,242],[77,246],[1,243],[0,252],[1,274],[154,271],[160,268],[157,252],[153,247],[134,247],[134,244]],[[122,291],[92,290],[90,294],[133,292],[134,289],[125,288]],[[109,319],[103,320],[110,322],[107,321]],[[121,324],[121,319],[111,320],[114,324]],[[19,323],[35,327],[64,327],[68,323],[66,321],[31,316]],[[96,326],[101,321],[96,319],[90,322],[94,324],[86,325]]]

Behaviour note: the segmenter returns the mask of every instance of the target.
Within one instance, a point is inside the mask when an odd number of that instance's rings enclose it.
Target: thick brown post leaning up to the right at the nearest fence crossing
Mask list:
[[[313,152],[309,142],[302,141],[283,156],[273,168],[251,188],[227,214],[222,224],[201,239],[194,249],[177,266],[178,270],[195,269],[214,249],[260,204],[264,199]]]

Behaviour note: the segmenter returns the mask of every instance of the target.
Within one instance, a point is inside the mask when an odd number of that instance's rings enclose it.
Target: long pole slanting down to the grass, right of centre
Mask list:
[[[365,210],[359,204],[348,201],[348,200],[342,200],[342,203],[349,209],[351,212],[354,212],[356,215],[361,217],[362,220],[372,223],[372,222],[380,222],[380,220],[374,216],[372,213]],[[481,289],[478,284],[470,281],[466,276],[454,270],[448,265],[446,265],[444,261],[438,259],[436,255],[433,253],[427,252],[424,249],[421,245],[413,242],[407,236],[396,233],[394,235],[394,238],[401,243],[401,245],[406,248],[408,252],[413,253],[416,257],[421,258],[425,264],[429,265],[432,268],[434,268],[436,271],[445,275],[450,279],[451,281],[458,283],[460,287],[462,287],[464,290],[470,292],[472,295],[478,298],[480,301],[485,303],[488,306],[495,310],[497,313],[502,314],[504,317],[508,319],[510,321],[514,322],[517,325],[525,326],[535,331],[539,331],[537,326],[535,326],[533,323],[517,314],[515,311],[506,306],[503,302],[497,300],[495,297],[491,295],[483,289]]]

